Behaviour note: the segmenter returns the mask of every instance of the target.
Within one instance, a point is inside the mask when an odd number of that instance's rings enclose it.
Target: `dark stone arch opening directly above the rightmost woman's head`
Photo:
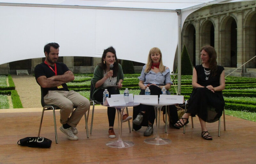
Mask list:
[[[214,47],[214,23],[211,19],[205,20],[200,27],[201,47],[211,45]]]

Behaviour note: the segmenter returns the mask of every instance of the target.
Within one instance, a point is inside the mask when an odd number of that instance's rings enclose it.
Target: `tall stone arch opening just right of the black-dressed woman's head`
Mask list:
[[[237,66],[237,23],[232,16],[222,18],[220,23],[220,65]]]

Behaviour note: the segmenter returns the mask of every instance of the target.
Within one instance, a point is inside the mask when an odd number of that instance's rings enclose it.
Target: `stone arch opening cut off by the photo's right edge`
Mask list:
[[[244,20],[244,55],[245,61],[249,61],[256,55],[256,12],[250,12]],[[248,62],[245,68],[256,68],[256,59]]]

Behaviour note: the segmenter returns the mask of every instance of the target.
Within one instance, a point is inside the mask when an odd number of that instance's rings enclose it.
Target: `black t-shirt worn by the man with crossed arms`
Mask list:
[[[52,67],[52,66],[50,66],[50,67]],[[69,70],[68,67],[64,63],[56,63],[56,67],[57,67],[57,75],[63,75],[65,72],[67,72]],[[55,70],[54,67],[52,67],[52,69]],[[49,68],[48,65],[45,64],[45,63],[38,64],[35,67],[36,82],[37,82],[37,78],[40,77],[40,76],[46,76],[46,78],[55,76],[55,73],[52,71],[52,69]],[[43,95],[45,96],[48,93],[48,90],[66,90],[66,91],[69,91],[68,86],[67,86],[66,83],[62,84],[62,87],[63,88],[60,88],[60,89],[58,89],[57,87],[42,88],[43,89]]]

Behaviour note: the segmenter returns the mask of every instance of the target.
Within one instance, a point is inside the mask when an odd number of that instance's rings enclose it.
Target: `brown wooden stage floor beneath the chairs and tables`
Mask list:
[[[256,122],[240,118],[226,116],[226,131],[221,120],[220,137],[218,121],[208,123],[212,141],[201,138],[198,118],[194,118],[194,128],[191,123],[187,125],[185,134],[183,128],[178,130],[169,126],[165,133],[164,122],[161,121],[159,135],[172,140],[168,145],[147,144],[144,139],[148,137],[143,136],[146,127],[129,132],[128,123],[124,123],[122,139],[135,145],[120,149],[105,145],[108,141],[117,140],[108,138],[105,107],[96,106],[89,138],[86,138],[84,118],[81,119],[77,126],[79,140],[76,141],[68,140],[60,132],[60,114],[56,111],[58,144],[55,143],[52,111],[45,111],[41,136],[52,140],[51,148],[17,145],[19,139],[37,136],[41,113],[42,108],[0,110],[0,163],[256,163]],[[129,108],[129,114],[132,116],[132,108]],[[114,130],[117,135],[117,118]]]

